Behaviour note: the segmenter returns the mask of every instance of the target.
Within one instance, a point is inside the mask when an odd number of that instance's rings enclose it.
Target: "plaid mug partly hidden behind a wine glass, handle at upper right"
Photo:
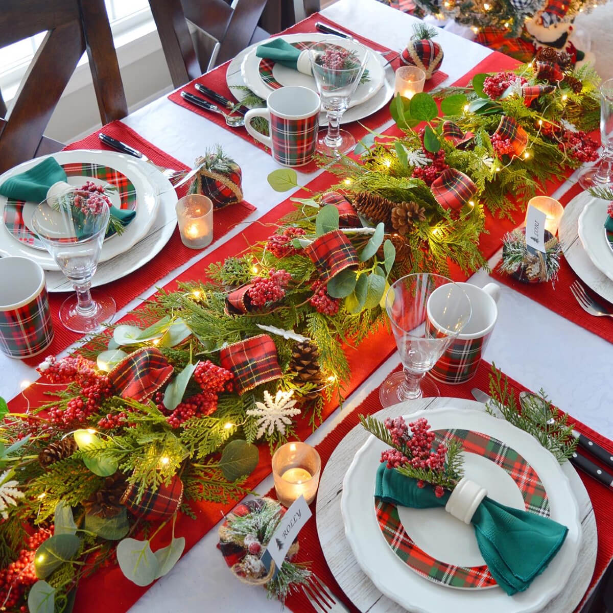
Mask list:
[[[497,302],[500,297],[500,286],[488,283],[481,289],[470,283],[457,285],[462,287],[468,296],[473,312],[462,332],[451,341],[451,345],[430,370],[430,375],[441,383],[465,383],[477,374],[481,356],[498,319]],[[436,290],[432,292],[430,300],[435,295]],[[436,321],[430,317],[429,310],[426,326],[432,335],[436,335],[436,330],[440,329]]]

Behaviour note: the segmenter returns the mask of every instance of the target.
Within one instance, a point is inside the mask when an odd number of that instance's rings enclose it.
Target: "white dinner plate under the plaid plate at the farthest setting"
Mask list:
[[[257,47],[259,45],[266,44],[271,40],[274,40],[278,37],[273,37],[267,40],[263,40],[254,48],[252,48],[243,59],[243,62],[240,66],[241,74],[243,76],[243,80],[247,84],[247,86],[253,91],[253,93],[257,94],[259,97],[267,99],[274,89],[267,85],[267,83],[262,80],[259,66],[262,58],[258,58],[256,56]],[[342,47],[351,50],[357,50],[359,48],[359,43],[354,42],[349,39],[341,39],[338,36],[333,36],[332,34],[287,34],[283,36],[283,40],[287,43],[315,43],[315,42],[331,42],[338,44]],[[362,45],[364,46],[364,45]],[[368,48],[368,47],[367,47]],[[369,49],[370,55],[367,60],[366,69],[368,70],[368,81],[365,83],[360,83],[353,96],[351,96],[351,101],[349,102],[349,108],[354,107],[358,104],[362,104],[366,102],[368,99],[373,97],[383,85],[385,80],[385,71],[381,62],[379,61],[379,53]],[[305,75],[298,70],[294,70],[288,68],[287,66],[283,66],[283,64],[275,63],[273,67],[273,76],[275,79],[283,86],[286,85],[301,85],[303,87],[308,87],[312,89],[315,93],[318,93],[317,85],[315,84],[315,79],[311,75]]]

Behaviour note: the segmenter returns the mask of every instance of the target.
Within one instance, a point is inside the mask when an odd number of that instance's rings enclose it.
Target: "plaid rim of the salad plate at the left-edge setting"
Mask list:
[[[88,179],[97,180],[96,183],[101,185],[114,185],[117,188],[119,202],[116,201],[115,195],[111,196],[113,204],[117,208],[134,211],[137,207],[136,188],[132,181],[119,170],[94,164],[93,162],[72,162],[70,164],[61,164],[66,172],[67,177],[83,177],[83,181],[69,181],[76,185],[85,183]],[[26,203],[23,200],[15,200],[7,198],[2,211],[2,221],[9,230],[10,234],[15,237],[20,243],[24,243],[35,249],[46,251],[45,246],[37,237],[36,233],[32,232],[26,226],[23,219],[23,207]]]

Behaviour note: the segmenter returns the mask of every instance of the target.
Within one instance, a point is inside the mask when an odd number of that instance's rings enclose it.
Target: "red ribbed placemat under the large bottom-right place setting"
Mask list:
[[[395,369],[395,371],[400,370],[400,366]],[[474,400],[472,397],[470,390],[473,387],[478,387],[481,390],[487,391],[489,389],[489,373],[490,373],[490,364],[485,361],[482,361],[479,365],[479,370],[477,375],[462,385],[458,386],[448,386],[444,384],[438,383],[438,387],[441,390],[441,397],[453,397],[453,398],[468,398],[469,400]],[[509,384],[511,387],[516,390],[516,394],[524,391],[526,388],[513,379],[509,378]],[[517,400],[517,398],[516,398]],[[321,467],[322,471],[326,467],[326,463],[332,455],[332,452],[336,449],[338,444],[343,438],[347,435],[347,433],[352,430],[352,428],[356,427],[359,424],[359,414],[368,414],[371,415],[376,413],[377,411],[381,411],[382,406],[379,402],[379,389],[375,389],[370,394],[368,394],[367,398],[356,407],[348,416],[337,425],[329,435],[324,438],[324,440],[319,443],[315,449],[319,452],[319,456],[321,457]],[[577,430],[579,430],[582,434],[588,436],[590,439],[595,441],[596,443],[603,446],[607,451],[613,453],[613,441],[601,436],[600,434],[594,432],[591,428],[588,428],[586,425],[581,422],[573,419],[571,417],[571,421],[575,424]],[[590,459],[594,460],[596,463],[599,463],[598,460],[595,460],[590,456]],[[606,468],[603,466],[603,468]],[[601,485],[599,482],[594,479],[588,477],[585,473],[579,471],[579,476],[585,485],[585,489],[587,489],[587,493],[592,501],[592,506],[594,508],[594,514],[596,516],[596,529],[598,530],[598,554],[596,555],[596,568],[594,574],[592,576],[592,581],[590,581],[590,587],[587,590],[587,593],[592,590],[598,579],[604,573],[604,570],[607,568],[611,559],[613,558],[613,531],[611,531],[611,506],[613,506],[613,492],[611,490],[607,490],[604,485]],[[338,484],[340,488],[342,484]],[[275,497],[275,490],[272,489],[267,493],[267,496]],[[339,596],[341,600],[349,607],[349,610],[352,612],[358,612],[354,604],[351,603],[349,598],[343,593],[340,585],[334,579],[328,565],[326,563],[326,558],[324,557],[324,552],[321,549],[321,545],[319,544],[319,538],[317,534],[317,526],[315,520],[315,504],[311,505],[311,511],[313,511],[313,517],[308,520],[307,525],[300,532],[300,551],[297,555],[297,562],[310,562],[311,569],[313,569],[314,573],[322,579],[324,584],[326,584],[335,595]],[[586,594],[587,594],[586,593]],[[303,611],[311,611],[310,604],[308,603],[307,598],[303,595],[302,591],[295,592],[285,601],[286,606],[294,611],[294,613],[303,613]],[[577,607],[576,611],[579,611],[581,606]]]

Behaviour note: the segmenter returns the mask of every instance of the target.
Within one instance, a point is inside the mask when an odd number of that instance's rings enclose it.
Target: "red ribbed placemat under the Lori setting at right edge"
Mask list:
[[[566,206],[581,191],[581,186],[578,184],[573,186],[560,198],[560,202]],[[520,294],[524,294],[535,302],[547,307],[550,311],[562,315],[562,317],[569,319],[577,324],[577,326],[590,330],[590,332],[604,338],[609,343],[613,343],[613,318],[594,317],[585,313],[573,296],[570,286],[574,281],[579,281],[585,287],[588,294],[593,295],[594,299],[603,305],[604,308],[607,308],[609,312],[613,312],[613,304],[607,302],[585,286],[585,283],[574,273],[573,268],[570,267],[565,257],[562,256],[560,258],[560,271],[558,272],[558,280],[555,281],[555,285],[552,283],[521,283],[512,278],[512,276],[501,274],[498,267],[492,272],[492,276],[499,283],[512,287]]]

